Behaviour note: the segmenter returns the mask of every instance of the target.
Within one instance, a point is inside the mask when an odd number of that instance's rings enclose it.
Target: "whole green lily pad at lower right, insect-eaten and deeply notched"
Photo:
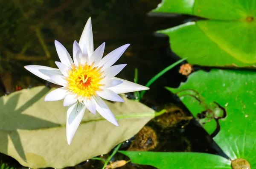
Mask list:
[[[219,118],[220,131],[213,138],[229,159],[197,152],[122,152],[131,162],[159,169],[253,169],[256,168],[256,72],[248,70],[202,70],[192,73],[173,93],[194,90],[207,107],[216,102],[227,113]],[[201,113],[194,96],[180,96],[193,115]],[[201,110],[203,108],[201,107]],[[206,122],[206,124],[209,123]],[[203,126],[205,128],[205,126]],[[161,160],[159,160],[161,159]]]

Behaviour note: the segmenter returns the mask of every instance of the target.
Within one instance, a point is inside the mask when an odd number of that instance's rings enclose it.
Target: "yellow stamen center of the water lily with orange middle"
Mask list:
[[[94,64],[94,63],[93,63]],[[78,97],[86,97],[90,99],[91,96],[96,95],[96,91],[100,91],[100,81],[102,77],[101,67],[93,67],[92,65],[72,65],[72,70],[68,72],[67,88],[70,89]]]

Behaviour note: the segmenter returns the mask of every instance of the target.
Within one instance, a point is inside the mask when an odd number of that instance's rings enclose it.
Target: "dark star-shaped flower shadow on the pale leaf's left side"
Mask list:
[[[46,121],[32,115],[22,114],[24,110],[29,108],[36,101],[41,99],[49,90],[44,88],[37,93],[33,98],[29,99],[25,104],[16,109],[19,102],[20,94],[17,93],[7,99],[6,103],[4,97],[0,98],[0,152],[8,155],[8,146],[13,144],[20,158],[26,161],[26,155],[20,141],[20,135],[17,130],[37,130],[48,127],[58,127],[59,124]],[[42,127],[43,124],[45,127]],[[28,143],[29,144],[29,143]]]

